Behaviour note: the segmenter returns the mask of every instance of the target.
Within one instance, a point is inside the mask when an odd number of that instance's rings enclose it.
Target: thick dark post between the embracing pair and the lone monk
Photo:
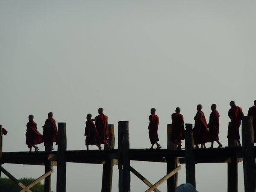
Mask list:
[[[130,142],[129,122],[118,122],[118,169],[119,169],[119,192],[130,192]]]

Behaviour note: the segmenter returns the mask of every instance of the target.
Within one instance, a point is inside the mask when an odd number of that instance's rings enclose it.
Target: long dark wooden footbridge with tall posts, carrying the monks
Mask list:
[[[51,173],[57,166],[57,192],[66,192],[66,163],[96,163],[103,164],[102,192],[111,192],[113,165],[119,169],[119,192],[130,192],[131,172],[142,180],[148,189],[146,192],[159,192],[157,186],[167,180],[168,192],[174,192],[177,187],[178,164],[186,164],[186,183],[196,186],[195,164],[196,163],[227,163],[227,192],[238,192],[237,163],[243,161],[244,167],[244,191],[255,192],[255,154],[256,148],[253,143],[252,118],[244,116],[242,119],[242,148],[236,147],[232,140],[229,145],[233,147],[195,149],[192,133],[192,124],[186,125],[185,150],[177,150],[177,145],[170,141],[172,124],[167,125],[168,146],[167,149],[130,149],[128,121],[118,123],[118,148],[111,150],[79,150],[67,151],[66,123],[58,123],[58,151],[36,153],[29,152],[2,152],[2,125],[0,125],[0,169],[6,176],[20,186],[20,192],[29,191],[32,186],[44,179],[44,192],[51,192]],[[115,143],[113,125],[108,125],[108,143],[113,148]],[[166,163],[167,175],[157,183],[150,183],[143,175],[130,166],[130,161],[151,161]],[[37,180],[24,186],[7,170],[1,167],[4,163],[42,165],[45,173]],[[0,172],[0,175],[1,175]]]

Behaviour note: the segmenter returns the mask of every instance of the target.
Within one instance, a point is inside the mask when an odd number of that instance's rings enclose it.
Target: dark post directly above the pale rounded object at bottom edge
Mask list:
[[[194,137],[192,124],[186,123],[185,145],[186,145],[186,183],[195,187],[195,157],[194,157]]]

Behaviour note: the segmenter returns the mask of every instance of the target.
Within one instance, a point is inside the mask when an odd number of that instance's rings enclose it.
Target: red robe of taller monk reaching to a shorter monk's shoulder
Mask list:
[[[104,144],[108,139],[108,116],[99,114],[95,117],[95,125],[98,131],[99,137],[101,138],[100,143]]]

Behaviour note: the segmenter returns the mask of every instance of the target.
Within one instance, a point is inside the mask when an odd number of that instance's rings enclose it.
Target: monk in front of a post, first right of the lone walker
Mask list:
[[[181,149],[181,140],[185,139],[184,119],[180,108],[176,108],[175,112],[172,113],[171,141],[178,145],[177,149]]]

